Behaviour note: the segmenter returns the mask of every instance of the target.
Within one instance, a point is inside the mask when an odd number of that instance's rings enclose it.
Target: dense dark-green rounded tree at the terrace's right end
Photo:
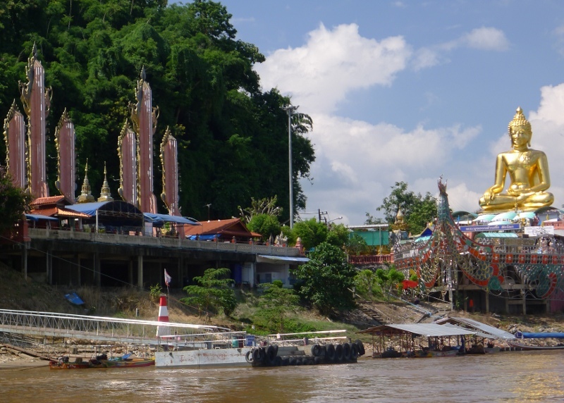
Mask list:
[[[307,263],[294,269],[294,274],[300,280],[298,294],[321,314],[355,305],[351,292],[355,268],[347,262],[347,255],[340,248],[322,242],[309,253]]]

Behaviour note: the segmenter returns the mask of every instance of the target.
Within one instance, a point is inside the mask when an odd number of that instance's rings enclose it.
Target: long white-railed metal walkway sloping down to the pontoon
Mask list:
[[[159,333],[174,335],[179,339],[180,337],[186,339],[208,335],[221,335],[223,338],[233,333],[228,328],[189,323],[0,309],[0,332],[35,337],[156,345],[159,344],[159,337],[157,337],[159,327],[161,328]]]

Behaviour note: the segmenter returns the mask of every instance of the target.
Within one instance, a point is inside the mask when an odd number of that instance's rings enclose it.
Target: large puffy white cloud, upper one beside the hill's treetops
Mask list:
[[[335,111],[349,92],[390,85],[411,55],[403,37],[361,37],[356,24],[309,32],[304,46],[279,49],[256,66],[264,89],[278,87],[308,112]]]

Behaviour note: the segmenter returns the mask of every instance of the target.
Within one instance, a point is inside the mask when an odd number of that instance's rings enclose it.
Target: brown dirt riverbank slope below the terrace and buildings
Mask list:
[[[155,320],[158,316],[159,302],[150,297],[149,292],[137,290],[133,287],[100,290],[95,287],[51,287],[44,283],[35,282],[21,274],[0,265],[0,309],[18,309],[29,311],[60,312],[68,314],[89,314],[95,316],[118,316],[122,318],[137,318]],[[77,292],[85,301],[82,306],[75,306],[66,301],[64,295],[68,292]],[[197,316],[194,310],[181,304],[178,300],[185,294],[178,290],[171,293],[168,302],[168,315],[170,321],[183,323],[204,324],[204,318]],[[429,304],[422,302],[419,310],[403,302],[378,302],[373,304],[374,312],[388,323],[416,323],[431,322],[441,316],[462,316],[472,318],[482,323],[487,323],[496,328],[515,333],[522,332],[564,332],[563,314],[508,316],[497,314],[469,314],[465,311],[449,311],[447,304]],[[433,312],[425,316],[424,311]],[[304,318],[312,318],[311,311],[305,311]],[[326,318],[318,318],[326,320]],[[225,316],[211,318],[212,325],[242,330],[243,323]],[[357,309],[343,316],[343,321],[355,325],[358,329],[368,328],[379,324],[367,314],[366,310]],[[338,319],[333,320],[338,327]],[[362,337],[359,337],[362,339]],[[50,354],[41,349],[20,351],[14,349],[6,337],[0,335],[0,368],[13,368],[14,366],[47,365],[41,357],[69,354],[78,342],[67,340],[67,344]],[[369,338],[365,338],[369,342]],[[558,340],[548,340],[547,345],[556,345]]]

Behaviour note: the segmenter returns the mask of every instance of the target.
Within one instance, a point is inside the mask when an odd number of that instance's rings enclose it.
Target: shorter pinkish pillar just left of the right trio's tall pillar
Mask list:
[[[137,140],[128,120],[118,138],[119,176],[118,194],[125,202],[137,206]]]

